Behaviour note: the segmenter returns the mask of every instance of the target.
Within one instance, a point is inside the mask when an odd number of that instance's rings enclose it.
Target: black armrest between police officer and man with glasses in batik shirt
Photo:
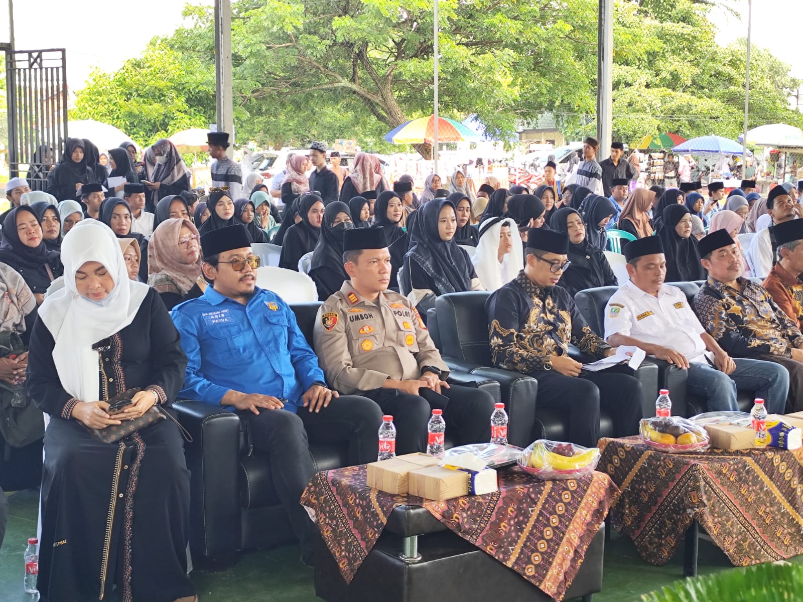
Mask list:
[[[532,376],[511,372],[502,368],[479,366],[471,370],[475,376],[499,383],[502,402],[507,410],[507,442],[527,447],[532,443],[532,429],[536,423],[536,396],[538,381]]]

